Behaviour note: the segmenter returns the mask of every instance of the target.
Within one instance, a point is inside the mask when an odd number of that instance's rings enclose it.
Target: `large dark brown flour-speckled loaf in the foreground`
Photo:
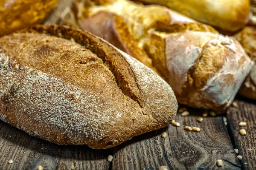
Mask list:
[[[0,119],[32,136],[105,149],[176,112],[161,77],[86,31],[33,26],[0,38]]]

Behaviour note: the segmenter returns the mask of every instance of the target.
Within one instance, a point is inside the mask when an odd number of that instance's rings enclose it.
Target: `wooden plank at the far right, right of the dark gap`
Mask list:
[[[234,144],[239,149],[239,155],[243,157],[241,165],[243,169],[256,169],[256,103],[253,100],[242,98],[236,99],[239,107],[230,107],[227,114],[230,130],[234,138]],[[245,127],[239,126],[239,122],[247,122]],[[244,128],[245,136],[239,134]]]

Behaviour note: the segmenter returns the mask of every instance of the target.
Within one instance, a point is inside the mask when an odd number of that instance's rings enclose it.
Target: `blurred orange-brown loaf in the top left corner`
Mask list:
[[[0,0],[0,36],[44,21],[58,0]]]

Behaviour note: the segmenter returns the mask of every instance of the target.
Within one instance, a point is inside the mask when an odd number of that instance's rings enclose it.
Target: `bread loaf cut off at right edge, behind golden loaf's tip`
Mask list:
[[[256,28],[245,27],[234,37],[241,43],[248,56],[256,62]],[[249,76],[245,79],[239,90],[239,94],[250,99],[256,99],[256,65],[250,71]]]

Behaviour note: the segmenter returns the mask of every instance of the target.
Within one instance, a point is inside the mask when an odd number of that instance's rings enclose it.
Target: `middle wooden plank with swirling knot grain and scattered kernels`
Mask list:
[[[241,169],[222,116],[207,117],[199,123],[198,111],[189,112],[193,114],[176,116],[180,127],[169,125],[115,147],[112,169],[155,170],[162,165],[180,170]],[[185,131],[186,125],[200,127],[201,131]],[[161,138],[164,131],[168,133],[165,139]],[[216,166],[218,159],[224,161],[224,167]]]

